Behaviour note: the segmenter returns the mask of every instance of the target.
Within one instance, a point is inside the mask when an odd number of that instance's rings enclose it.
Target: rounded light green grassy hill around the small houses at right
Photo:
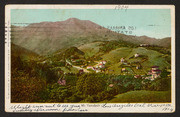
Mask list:
[[[139,53],[140,55],[148,56],[148,60],[142,63],[141,58],[129,59],[130,57],[134,56],[134,54],[136,53]],[[121,63],[119,61],[122,57],[124,57],[128,62],[140,61],[143,68],[139,70],[135,68],[132,69],[137,74],[144,74],[147,73],[147,71],[150,70],[150,67],[154,65],[160,66],[160,69],[163,69],[167,66],[170,67],[170,64],[162,56],[163,54],[157,51],[147,50],[146,48],[143,47],[138,47],[138,48],[123,47],[112,50],[109,53],[104,54],[102,58],[106,61],[111,62],[111,66],[109,67],[109,69],[114,70],[114,74],[120,73],[121,68],[119,68],[119,65],[121,65]]]

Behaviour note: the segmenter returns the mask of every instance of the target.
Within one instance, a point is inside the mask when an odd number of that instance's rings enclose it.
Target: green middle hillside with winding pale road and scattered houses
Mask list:
[[[103,60],[107,62],[104,73],[116,75],[144,75],[148,73],[152,66],[159,66],[160,70],[170,68],[170,54],[161,53],[155,49],[156,47],[138,47],[130,43],[123,43],[114,43],[114,41],[92,42],[83,44],[78,48],[60,49],[46,56],[44,60],[49,61],[54,68],[61,68],[68,73],[77,73],[78,69],[86,71],[88,66],[95,67],[98,62]],[[106,46],[108,47],[106,48]],[[162,51],[163,49],[166,50],[166,48],[161,48]],[[137,53],[140,56],[134,57]],[[121,58],[126,60],[125,64],[122,64]],[[70,64],[70,66],[66,64]],[[140,66],[140,68],[137,69],[137,66]],[[69,71],[64,67],[68,67]],[[123,68],[127,69],[128,72],[122,72]]]

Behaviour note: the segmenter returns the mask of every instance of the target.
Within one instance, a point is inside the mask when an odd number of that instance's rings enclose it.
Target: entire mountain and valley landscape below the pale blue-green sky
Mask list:
[[[76,18],[12,27],[12,102],[171,101],[171,38],[124,35]]]

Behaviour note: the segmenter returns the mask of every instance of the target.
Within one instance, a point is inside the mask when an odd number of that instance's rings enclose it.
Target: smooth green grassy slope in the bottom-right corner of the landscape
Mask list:
[[[170,102],[170,91],[129,91],[127,93],[116,95],[108,103],[128,103],[128,102]]]

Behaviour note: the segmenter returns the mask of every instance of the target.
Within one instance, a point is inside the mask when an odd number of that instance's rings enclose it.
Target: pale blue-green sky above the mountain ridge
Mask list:
[[[11,24],[56,22],[69,18],[90,20],[103,27],[118,26],[120,33],[157,39],[171,36],[170,9],[12,9]],[[129,28],[131,27],[131,28]],[[134,28],[134,29],[133,29]],[[133,30],[132,30],[133,29]],[[125,32],[125,31],[128,31]],[[131,33],[129,32],[131,31]]]

